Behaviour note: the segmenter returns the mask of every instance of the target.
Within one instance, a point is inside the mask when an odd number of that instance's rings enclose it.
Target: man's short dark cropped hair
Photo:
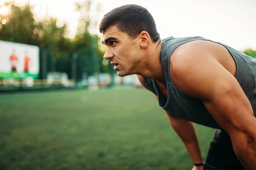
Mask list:
[[[129,4],[112,9],[102,18],[99,31],[104,33],[113,25],[133,39],[142,31],[147,31],[153,42],[160,39],[154,18],[146,8],[139,5]]]

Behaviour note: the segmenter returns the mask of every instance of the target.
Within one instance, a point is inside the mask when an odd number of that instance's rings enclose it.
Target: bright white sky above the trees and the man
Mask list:
[[[0,0],[3,3],[4,0]],[[30,2],[36,17],[56,17],[59,25],[68,24],[69,36],[76,34],[79,13],[74,2],[83,0],[15,0]],[[94,0],[101,11],[92,14],[98,23],[105,13],[125,4],[138,4],[154,17],[161,39],[201,36],[222,42],[237,50],[256,49],[256,0]],[[98,29],[92,34],[101,34]]]

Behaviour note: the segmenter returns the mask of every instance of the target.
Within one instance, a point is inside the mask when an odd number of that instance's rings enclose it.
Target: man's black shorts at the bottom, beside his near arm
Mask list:
[[[208,170],[244,170],[233,150],[228,133],[216,130],[205,161]]]

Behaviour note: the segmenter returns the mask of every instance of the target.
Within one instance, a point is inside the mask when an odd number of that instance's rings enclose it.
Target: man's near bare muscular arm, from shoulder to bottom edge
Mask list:
[[[188,55],[189,54],[189,55]],[[239,161],[256,167],[256,119],[241,86],[207,48],[183,48],[171,57],[172,79],[184,94],[201,99],[229,133]]]

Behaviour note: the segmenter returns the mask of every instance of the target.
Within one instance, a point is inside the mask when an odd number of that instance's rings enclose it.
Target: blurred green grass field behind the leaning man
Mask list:
[[[191,170],[144,89],[0,95],[0,170]],[[196,125],[202,156],[214,129]]]

